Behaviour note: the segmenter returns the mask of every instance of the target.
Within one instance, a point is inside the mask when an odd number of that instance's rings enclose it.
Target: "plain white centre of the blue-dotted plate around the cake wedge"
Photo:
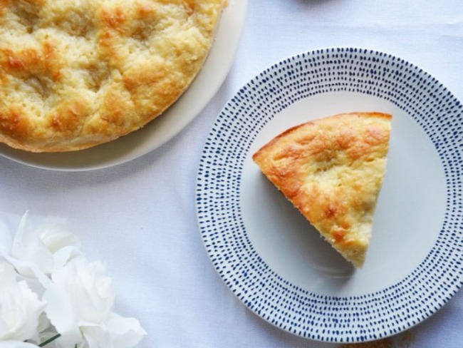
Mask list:
[[[320,237],[251,159],[256,150],[287,128],[353,111],[393,116],[387,173],[361,270]],[[360,93],[324,93],[292,104],[257,135],[244,163],[241,208],[252,245],[283,279],[321,295],[375,292],[409,275],[435,244],[445,202],[442,163],[422,128],[394,104]]]

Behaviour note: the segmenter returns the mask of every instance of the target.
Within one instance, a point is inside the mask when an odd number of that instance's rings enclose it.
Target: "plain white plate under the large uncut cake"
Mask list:
[[[233,63],[246,17],[247,0],[229,0],[214,46],[202,71],[164,115],[118,140],[71,153],[28,153],[0,144],[0,155],[51,170],[93,170],[128,162],[159,148],[180,133],[219,90]]]

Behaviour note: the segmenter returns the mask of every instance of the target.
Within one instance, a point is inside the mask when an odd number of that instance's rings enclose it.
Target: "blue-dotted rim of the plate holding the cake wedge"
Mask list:
[[[410,115],[434,143],[447,183],[444,221],[425,260],[395,285],[350,297],[318,295],[277,275],[251,244],[240,206],[244,160],[266,123],[302,98],[336,91],[377,96]],[[379,51],[320,49],[260,73],[224,107],[199,164],[199,228],[222,280],[263,319],[320,341],[380,339],[430,317],[463,282],[462,117],[462,104],[442,83]]]

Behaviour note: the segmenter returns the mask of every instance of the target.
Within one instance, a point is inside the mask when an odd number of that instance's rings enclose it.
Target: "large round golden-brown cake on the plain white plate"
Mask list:
[[[160,116],[212,46],[222,0],[0,0],[0,142],[105,143]]]

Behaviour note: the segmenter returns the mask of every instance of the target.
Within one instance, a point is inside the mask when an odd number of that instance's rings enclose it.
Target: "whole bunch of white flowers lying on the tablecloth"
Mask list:
[[[88,262],[75,235],[23,216],[16,235],[0,221],[0,348],[129,348],[146,334],[113,312],[100,261]],[[58,337],[58,338],[57,338]]]

